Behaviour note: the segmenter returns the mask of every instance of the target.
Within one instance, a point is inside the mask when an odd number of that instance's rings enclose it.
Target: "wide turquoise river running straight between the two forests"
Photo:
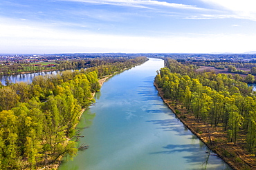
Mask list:
[[[165,170],[230,169],[175,118],[163,103],[153,81],[163,60],[149,59],[143,65],[113,76],[96,94],[95,105],[84,116],[95,114],[84,129],[79,151],[61,170]],[[93,116],[91,116],[93,117]]]

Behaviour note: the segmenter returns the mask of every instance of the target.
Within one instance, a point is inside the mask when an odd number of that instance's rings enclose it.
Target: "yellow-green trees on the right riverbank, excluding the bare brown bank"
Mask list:
[[[224,138],[210,140],[211,145],[219,142],[223,145],[228,143],[231,147],[239,146],[255,158],[256,94],[252,87],[248,87],[241,77],[196,72],[196,68],[196,65],[165,59],[165,67],[158,71],[155,83],[163,90],[164,98],[181,104],[181,108],[188,111],[182,117],[185,121],[186,114],[192,113],[196,118],[194,126],[202,122],[203,125],[222,129]],[[175,112],[180,113],[179,110]],[[209,131],[208,134],[210,138]],[[243,162],[236,153],[228,150],[222,153],[224,157],[232,157],[235,163]],[[255,166],[255,162],[250,165]]]

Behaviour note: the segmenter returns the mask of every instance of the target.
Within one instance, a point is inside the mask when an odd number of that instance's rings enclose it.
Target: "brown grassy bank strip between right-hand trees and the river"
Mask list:
[[[211,127],[196,119],[193,114],[189,113],[185,107],[175,100],[163,98],[163,91],[154,84],[158,89],[158,94],[164,103],[172,109],[179,120],[188,127],[194,135],[205,143],[212,151],[217,153],[219,158],[223,159],[232,167],[232,169],[256,169],[256,158],[246,151],[244,142],[239,140],[235,145],[227,142],[226,131],[223,127]]]

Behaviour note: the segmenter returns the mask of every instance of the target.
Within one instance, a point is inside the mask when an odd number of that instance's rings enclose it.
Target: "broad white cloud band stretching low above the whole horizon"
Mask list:
[[[55,30],[45,25],[6,24],[0,27],[0,53],[61,52],[246,52],[255,50],[256,35],[184,34],[120,36]]]

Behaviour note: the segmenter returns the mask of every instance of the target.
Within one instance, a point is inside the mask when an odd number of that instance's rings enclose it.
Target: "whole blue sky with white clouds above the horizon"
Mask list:
[[[256,51],[255,0],[1,0],[0,54]]]

